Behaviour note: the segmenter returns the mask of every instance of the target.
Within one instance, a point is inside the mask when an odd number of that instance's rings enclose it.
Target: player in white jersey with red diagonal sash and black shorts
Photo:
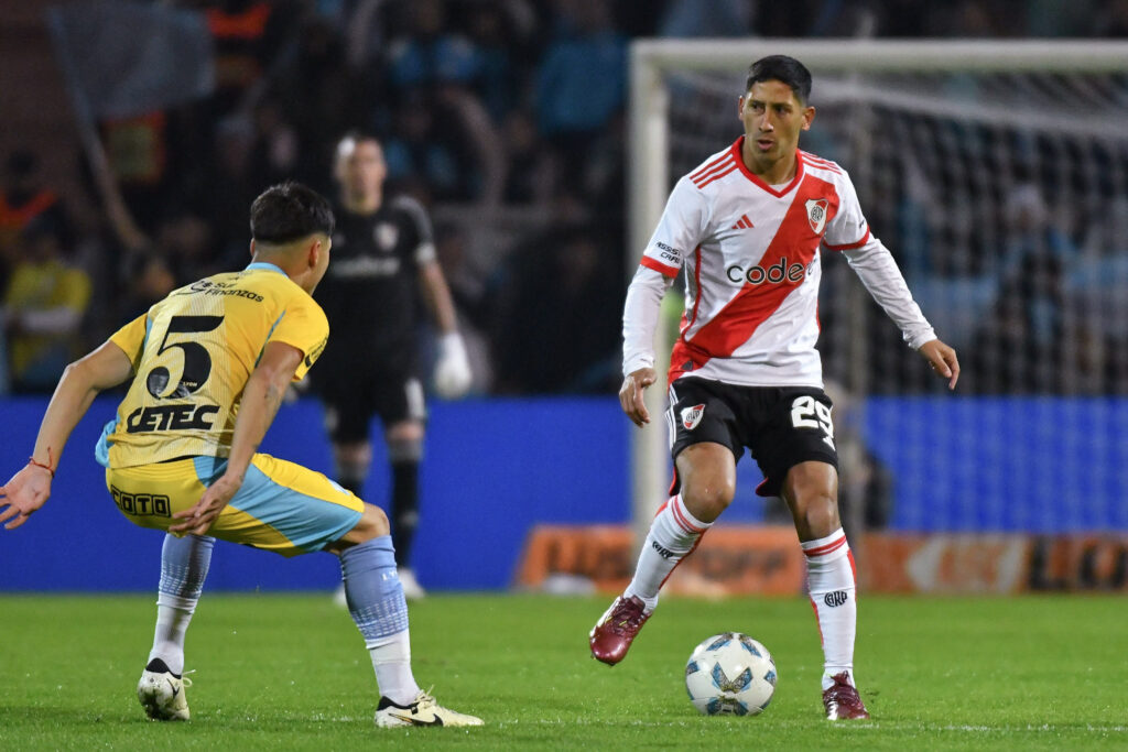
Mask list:
[[[807,557],[822,638],[827,717],[869,718],[854,683],[854,559],[838,516],[830,400],[822,390],[818,293],[823,249],[841,253],[906,343],[954,388],[955,351],[936,338],[889,250],[874,238],[846,171],[799,149],[811,127],[811,74],[784,55],[751,64],[739,115],[744,134],[678,180],[627,291],[623,410],[650,422],[659,306],[679,271],[686,310],[670,359],[672,496],[659,510],[634,578],[591,630],[614,665],[658,604],[673,568],[732,502],[747,446],[757,493],[782,496]]]

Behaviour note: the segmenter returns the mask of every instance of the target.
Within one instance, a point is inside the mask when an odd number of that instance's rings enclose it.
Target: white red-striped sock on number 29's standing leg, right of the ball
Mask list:
[[[822,637],[822,689],[846,672],[854,683],[854,634],[857,630],[854,557],[839,528],[826,538],[801,543],[807,555],[807,585]]]

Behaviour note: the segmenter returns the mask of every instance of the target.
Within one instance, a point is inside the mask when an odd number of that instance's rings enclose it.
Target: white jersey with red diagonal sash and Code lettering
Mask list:
[[[642,265],[682,268],[686,310],[669,378],[740,386],[822,386],[820,249],[870,240],[854,186],[835,162],[796,153],[770,186],[744,166],[743,136],[678,180]]]

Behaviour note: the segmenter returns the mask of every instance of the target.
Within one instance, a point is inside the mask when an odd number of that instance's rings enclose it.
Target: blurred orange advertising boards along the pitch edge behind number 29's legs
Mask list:
[[[1128,591],[1126,534],[871,532],[851,545],[862,592]],[[637,557],[626,525],[538,525],[526,542],[517,584],[619,593],[631,582]],[[663,592],[790,595],[804,592],[805,580],[792,528],[719,525],[673,570]]]

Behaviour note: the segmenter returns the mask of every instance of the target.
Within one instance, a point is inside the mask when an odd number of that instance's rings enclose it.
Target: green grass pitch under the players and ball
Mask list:
[[[857,672],[874,719],[848,724],[821,717],[800,598],[668,598],[614,669],[587,649],[605,599],[413,603],[416,679],[485,719],[472,729],[376,728],[371,664],[328,593],[205,594],[187,640],[192,720],[148,722],[133,691],[153,600],[0,595],[0,750],[1128,749],[1122,595],[863,596]],[[689,652],[725,630],[776,658],[759,717],[703,717],[686,697]]]

